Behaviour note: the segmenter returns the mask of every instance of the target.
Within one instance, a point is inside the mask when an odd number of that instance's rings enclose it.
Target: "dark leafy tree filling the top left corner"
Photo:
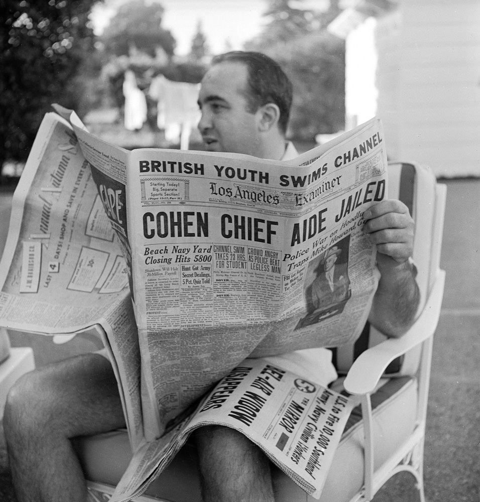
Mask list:
[[[26,160],[53,102],[75,108],[93,48],[95,0],[4,0],[0,14],[0,167]]]

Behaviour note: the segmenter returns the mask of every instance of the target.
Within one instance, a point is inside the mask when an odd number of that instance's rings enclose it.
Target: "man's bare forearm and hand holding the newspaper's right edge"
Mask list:
[[[364,231],[377,246],[377,266],[381,277],[369,321],[384,334],[402,336],[415,320],[420,293],[414,267],[414,221],[399,200],[384,200],[364,213]]]

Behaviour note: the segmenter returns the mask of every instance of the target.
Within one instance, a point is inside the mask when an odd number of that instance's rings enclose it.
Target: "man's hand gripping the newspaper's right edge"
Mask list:
[[[364,232],[377,247],[380,272],[388,266],[402,264],[412,256],[415,224],[403,202],[383,200],[367,209],[364,219]]]

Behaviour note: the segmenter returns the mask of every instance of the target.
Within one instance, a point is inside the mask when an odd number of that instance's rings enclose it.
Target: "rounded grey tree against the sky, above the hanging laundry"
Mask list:
[[[164,12],[160,4],[146,5],[145,0],[122,5],[101,36],[105,51],[115,56],[140,51],[153,58],[161,49],[171,57],[176,43],[170,31],[161,27]]]

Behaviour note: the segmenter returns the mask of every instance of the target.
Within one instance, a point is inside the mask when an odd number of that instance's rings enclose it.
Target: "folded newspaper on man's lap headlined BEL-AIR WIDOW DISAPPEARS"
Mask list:
[[[201,400],[193,416],[146,443],[112,502],[143,493],[196,428],[220,424],[245,434],[302,489],[319,498],[354,399],[265,359],[245,359]]]

